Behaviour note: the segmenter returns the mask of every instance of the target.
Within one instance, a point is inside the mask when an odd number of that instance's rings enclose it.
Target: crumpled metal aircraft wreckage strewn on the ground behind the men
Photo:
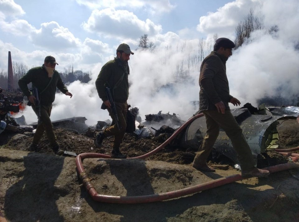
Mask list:
[[[137,138],[151,138],[157,137],[160,134],[166,134],[164,140],[168,139],[176,129],[169,127],[168,125],[181,126],[184,121],[173,113],[163,114],[159,111],[157,114],[145,115],[145,121],[141,123],[141,117],[138,115],[138,108],[132,108],[131,112],[135,114],[136,130],[133,134]],[[298,119],[299,122],[299,107],[264,107],[260,106],[259,109],[251,106],[247,103],[244,107],[239,109],[231,109],[231,113],[235,117],[236,121],[239,123],[243,130],[244,137],[246,138],[252,154],[257,158],[260,153],[266,153],[271,149],[277,149],[279,142],[279,134],[277,131],[277,126],[280,120],[284,119]],[[194,115],[198,114],[195,113]],[[73,117],[68,119],[62,119],[58,121],[53,121],[52,124],[55,128],[67,128],[77,131],[78,133],[83,133],[90,126],[85,124],[85,117]],[[28,126],[26,125],[25,119],[22,117],[15,119],[15,127],[17,130],[13,130],[18,133],[23,133],[25,131],[31,131],[36,128],[36,123],[32,123]],[[111,124],[111,121],[98,121],[97,125],[94,126],[95,129],[102,129]],[[166,125],[168,124],[168,125]],[[8,124],[9,125],[9,124]],[[155,128],[160,127],[159,129]],[[91,127],[93,128],[93,127]],[[151,129],[150,129],[151,128]],[[11,129],[7,127],[7,130]],[[154,130],[154,132],[153,132]],[[22,132],[21,132],[22,131]],[[177,136],[176,140],[173,140],[173,145],[178,145],[181,147],[189,148],[193,152],[198,150],[204,136],[206,134],[206,119],[204,116],[196,118],[190,124],[187,125]],[[226,157],[233,160],[235,163],[239,164],[236,152],[231,144],[230,139],[225,134],[223,130],[220,129],[219,136],[214,144],[214,149],[216,152],[225,155]],[[192,158],[192,157],[191,157]]]

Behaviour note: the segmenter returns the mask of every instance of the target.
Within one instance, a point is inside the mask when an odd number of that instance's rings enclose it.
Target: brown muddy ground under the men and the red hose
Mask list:
[[[76,154],[110,155],[112,138],[101,148],[93,144],[93,131],[78,134],[55,130],[61,148]],[[299,124],[286,120],[278,126],[280,147],[297,147]],[[298,221],[299,169],[249,178],[177,199],[143,204],[109,204],[91,198],[78,180],[75,158],[56,156],[44,136],[40,151],[28,152],[32,135],[17,134],[0,146],[0,212],[8,222],[60,221]],[[126,134],[121,151],[128,157],[148,153],[164,142],[161,138],[137,139]],[[195,186],[223,176],[240,174],[225,158],[208,163],[216,173],[191,167],[186,149],[166,146],[145,159],[88,158],[83,166],[98,194],[151,195]],[[189,153],[190,154],[190,153]],[[277,152],[260,159],[259,166],[290,162]],[[0,219],[1,221],[1,219]]]

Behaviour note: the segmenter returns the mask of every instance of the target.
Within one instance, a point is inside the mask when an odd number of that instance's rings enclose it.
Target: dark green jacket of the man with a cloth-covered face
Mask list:
[[[40,93],[46,88],[50,80],[51,78],[48,77],[48,73],[45,70],[44,65],[42,65],[29,70],[21,77],[21,79],[19,79],[18,84],[24,95],[29,97],[31,92],[29,91],[27,84],[32,83],[32,87],[36,87]],[[62,82],[58,71],[54,70],[50,85],[40,94],[39,99],[41,105],[49,106],[54,102],[56,87],[64,94],[68,92],[68,89]]]

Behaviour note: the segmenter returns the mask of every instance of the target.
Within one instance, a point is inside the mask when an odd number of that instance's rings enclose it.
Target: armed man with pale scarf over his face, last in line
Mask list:
[[[39,67],[29,70],[21,79],[18,84],[25,96],[31,103],[33,111],[38,115],[38,109],[35,104],[36,97],[28,89],[27,84],[32,83],[32,88],[35,87],[39,94],[39,107],[40,107],[40,123],[38,123],[36,132],[34,133],[31,145],[28,147],[29,151],[37,152],[38,143],[42,138],[44,132],[50,142],[50,147],[56,155],[62,155],[64,151],[59,148],[57,138],[53,130],[50,120],[52,110],[52,103],[55,100],[56,87],[65,95],[72,98],[72,94],[68,91],[66,86],[61,80],[55,66],[58,65],[53,56],[46,56],[44,64]]]

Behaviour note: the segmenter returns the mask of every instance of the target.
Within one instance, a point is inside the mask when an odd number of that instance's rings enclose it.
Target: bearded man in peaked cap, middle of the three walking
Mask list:
[[[127,99],[129,97],[128,75],[130,74],[128,60],[130,60],[130,55],[134,55],[130,46],[125,43],[120,44],[116,49],[116,57],[103,65],[96,80],[97,93],[102,99],[103,105],[107,107],[112,118],[112,124],[97,133],[94,143],[96,147],[100,147],[104,138],[114,136],[111,158],[126,158],[126,155],[120,152],[120,145],[126,131]],[[110,88],[114,99],[119,128],[115,124],[116,119],[112,113],[105,87]]]

